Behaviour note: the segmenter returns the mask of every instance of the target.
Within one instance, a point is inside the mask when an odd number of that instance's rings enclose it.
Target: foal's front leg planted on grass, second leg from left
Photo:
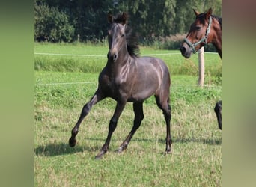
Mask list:
[[[109,142],[112,137],[112,133],[115,131],[115,128],[117,127],[118,119],[122,111],[124,110],[125,104],[126,104],[126,101],[118,102],[118,104],[116,105],[114,115],[109,122],[109,133],[106,138],[105,144],[103,144],[103,147],[101,148],[100,153],[98,153],[97,156],[95,156],[95,159],[101,159],[101,157],[109,150]]]

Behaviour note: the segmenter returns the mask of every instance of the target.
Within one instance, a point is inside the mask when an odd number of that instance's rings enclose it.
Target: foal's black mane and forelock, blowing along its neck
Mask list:
[[[128,18],[128,15],[127,15],[127,18]],[[124,20],[123,14],[118,13],[118,15],[113,18],[113,22],[127,24],[127,18],[126,20]],[[132,28],[129,27],[129,25],[126,25],[126,28],[125,28],[125,37],[127,40],[127,50],[129,55],[131,55],[132,57],[139,57],[140,51],[138,46],[138,36],[135,34]]]

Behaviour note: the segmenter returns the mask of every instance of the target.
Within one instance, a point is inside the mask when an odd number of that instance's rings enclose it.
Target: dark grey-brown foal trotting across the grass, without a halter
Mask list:
[[[76,135],[79,125],[89,113],[92,106],[102,99],[110,97],[117,102],[113,117],[109,122],[109,133],[100,153],[95,157],[100,159],[108,150],[112,133],[127,102],[133,102],[135,119],[131,132],[118,148],[125,150],[132,136],[141,125],[144,118],[143,102],[154,95],[156,104],[162,110],[166,122],[166,153],[171,153],[171,107],[169,105],[170,74],[164,61],[159,58],[138,57],[137,37],[127,26],[127,13],[113,17],[108,14],[111,28],[108,31],[109,52],[106,67],[99,76],[98,88],[91,100],[84,105],[76,126],[73,127],[69,144],[76,145]]]

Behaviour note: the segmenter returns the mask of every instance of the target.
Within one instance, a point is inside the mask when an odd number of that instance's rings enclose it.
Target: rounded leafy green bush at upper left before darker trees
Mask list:
[[[34,5],[34,38],[51,42],[70,42],[74,34],[69,16],[57,7]]]

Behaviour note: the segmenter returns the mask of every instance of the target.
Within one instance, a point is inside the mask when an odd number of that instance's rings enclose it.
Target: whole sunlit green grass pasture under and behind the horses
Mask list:
[[[35,43],[34,51],[106,55],[107,47]],[[141,55],[164,53],[177,52],[141,49]],[[213,111],[222,95],[221,60],[218,55],[205,54],[206,86],[199,88],[195,86],[197,55],[189,60],[181,55],[157,57],[171,71],[173,153],[165,155],[165,120],[150,97],[144,102],[141,127],[127,150],[115,153],[132,128],[131,103],[121,114],[109,152],[95,160],[106,139],[115,101],[105,99],[91,109],[80,126],[76,147],[69,147],[68,138],[82,106],[97,88],[106,57],[35,55],[35,186],[221,186],[222,132]]]

